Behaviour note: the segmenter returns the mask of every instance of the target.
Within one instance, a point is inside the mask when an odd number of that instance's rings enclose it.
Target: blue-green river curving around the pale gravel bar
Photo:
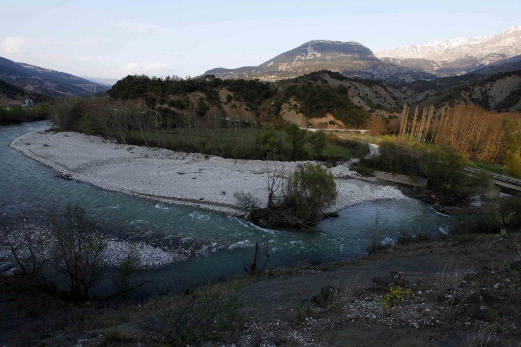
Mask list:
[[[393,242],[401,232],[439,235],[451,218],[437,214],[431,205],[416,199],[365,202],[340,211],[340,216],[320,222],[316,231],[270,230],[216,212],[179,205],[160,204],[89,184],[56,177],[47,166],[28,159],[9,147],[15,138],[47,126],[47,122],[0,127],[0,214],[41,216],[51,209],[64,211],[79,204],[104,231],[123,239],[146,236],[160,240],[191,239],[219,250],[142,273],[154,284],[140,289],[137,297],[177,289],[180,284],[199,285],[243,273],[250,262],[253,245],[269,238],[272,250],[269,267],[297,262],[321,263],[349,260],[366,254],[368,230],[380,210],[379,242]],[[102,290],[108,284],[98,288]],[[100,289],[102,288],[102,289]]]

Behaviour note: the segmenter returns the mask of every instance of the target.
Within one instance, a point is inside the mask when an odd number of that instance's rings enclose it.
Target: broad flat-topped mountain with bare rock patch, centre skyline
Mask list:
[[[206,71],[204,75],[214,75],[221,79],[258,78],[275,81],[320,70],[336,71],[350,77],[393,82],[436,79],[436,76],[425,71],[381,61],[369,48],[360,43],[326,40],[306,42],[258,66],[216,68]]]

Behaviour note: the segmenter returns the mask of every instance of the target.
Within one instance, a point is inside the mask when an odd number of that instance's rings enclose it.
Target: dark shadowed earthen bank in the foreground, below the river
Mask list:
[[[516,259],[510,240],[465,235],[395,245],[349,262],[236,277],[211,288],[242,298],[245,320],[220,335],[209,331],[195,345],[517,345],[519,282],[502,265]],[[393,270],[407,279],[410,292],[387,311],[383,303],[389,292],[371,289],[371,282],[390,278]],[[168,332],[175,322],[152,323],[162,322],[176,312],[176,305],[197,295],[73,305],[45,293],[38,296],[16,277],[0,277],[0,283],[0,313],[5,317],[0,320],[5,332],[0,343],[7,345],[156,345],[154,333]],[[324,287],[335,293],[326,307],[302,303]]]

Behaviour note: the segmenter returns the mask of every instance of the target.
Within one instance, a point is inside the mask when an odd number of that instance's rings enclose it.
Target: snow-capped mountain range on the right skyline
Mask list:
[[[521,26],[497,35],[455,38],[384,49],[375,56],[404,68],[451,76],[489,66],[521,54]]]

